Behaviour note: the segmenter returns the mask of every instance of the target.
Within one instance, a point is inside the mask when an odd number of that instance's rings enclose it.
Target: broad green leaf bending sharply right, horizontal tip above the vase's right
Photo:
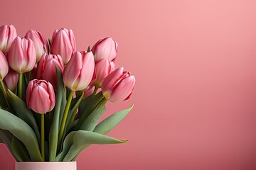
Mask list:
[[[108,137],[97,132],[85,130],[76,131],[73,135],[73,145],[70,147],[68,154],[63,159],[63,162],[70,162],[86,145],[106,145],[126,143],[127,140],[117,140],[113,137]]]

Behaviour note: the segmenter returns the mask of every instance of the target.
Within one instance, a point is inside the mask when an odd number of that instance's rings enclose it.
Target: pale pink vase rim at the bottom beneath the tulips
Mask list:
[[[16,162],[15,170],[77,170],[76,162]]]

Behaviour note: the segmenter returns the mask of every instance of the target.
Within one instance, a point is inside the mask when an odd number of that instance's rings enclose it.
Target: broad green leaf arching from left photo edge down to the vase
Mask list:
[[[26,146],[32,162],[42,162],[38,140],[32,128],[16,115],[0,109],[0,129],[9,130],[12,135]]]

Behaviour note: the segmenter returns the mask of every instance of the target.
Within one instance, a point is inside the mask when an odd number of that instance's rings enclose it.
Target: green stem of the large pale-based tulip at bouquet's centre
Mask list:
[[[63,113],[63,120],[62,120],[61,125],[60,125],[60,133],[59,133],[59,136],[58,136],[58,149],[60,149],[61,143],[63,142],[63,134],[64,134],[64,130],[65,130],[65,125],[67,123],[68,110],[70,108],[70,103],[72,101],[74,92],[75,91],[70,91],[69,96],[68,96],[68,101],[67,101],[67,104],[65,106],[64,113]]]

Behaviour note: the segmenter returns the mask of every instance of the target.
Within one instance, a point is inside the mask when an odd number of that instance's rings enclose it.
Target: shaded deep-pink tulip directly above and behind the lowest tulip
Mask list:
[[[60,55],[42,55],[38,64],[37,79],[45,79],[50,84],[53,84],[55,88],[57,86],[57,72],[55,67],[58,67],[60,72],[63,73],[64,64]]]

